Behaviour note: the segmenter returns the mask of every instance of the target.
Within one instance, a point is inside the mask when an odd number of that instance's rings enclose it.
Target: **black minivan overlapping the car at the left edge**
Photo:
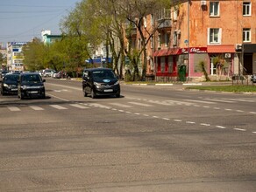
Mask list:
[[[18,79],[18,98],[45,98],[46,91],[44,82],[38,72],[25,72],[19,75]]]

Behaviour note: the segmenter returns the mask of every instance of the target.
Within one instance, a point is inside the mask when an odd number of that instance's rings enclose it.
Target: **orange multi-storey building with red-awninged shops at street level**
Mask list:
[[[174,1],[146,17],[157,26],[147,51],[147,74],[156,80],[231,79],[256,73],[256,0]],[[133,42],[139,42],[134,32]],[[152,59],[151,59],[152,58]]]

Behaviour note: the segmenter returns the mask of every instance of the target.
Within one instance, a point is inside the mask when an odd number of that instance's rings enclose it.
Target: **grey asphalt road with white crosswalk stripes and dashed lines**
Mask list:
[[[0,96],[0,191],[256,191],[256,97],[122,85]]]

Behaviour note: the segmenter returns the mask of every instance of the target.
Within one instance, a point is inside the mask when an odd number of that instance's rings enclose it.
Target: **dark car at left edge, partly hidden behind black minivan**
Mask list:
[[[17,94],[17,80],[19,75],[14,73],[7,73],[1,81],[0,91],[2,95],[5,94]]]

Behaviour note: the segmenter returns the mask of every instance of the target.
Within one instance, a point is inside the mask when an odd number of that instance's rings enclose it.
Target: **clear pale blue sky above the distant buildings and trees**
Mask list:
[[[41,38],[42,30],[60,35],[60,20],[81,0],[0,0],[0,45]]]

